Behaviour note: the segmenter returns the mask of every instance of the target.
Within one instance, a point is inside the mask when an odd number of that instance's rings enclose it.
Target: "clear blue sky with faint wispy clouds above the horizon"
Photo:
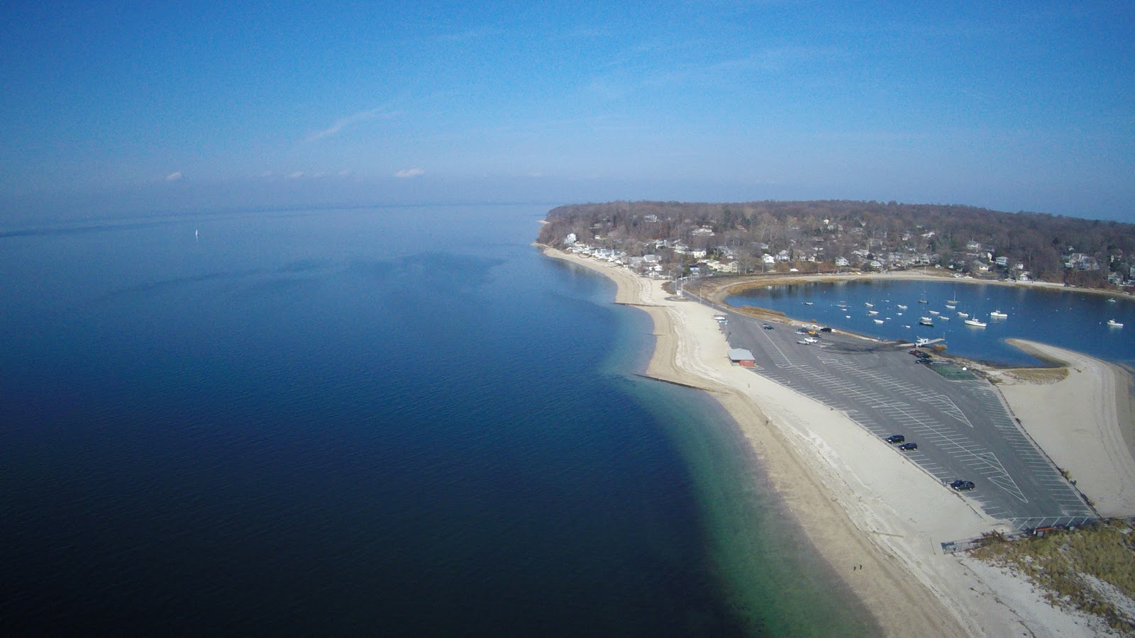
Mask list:
[[[0,215],[875,199],[1135,221],[1130,2],[28,3]]]

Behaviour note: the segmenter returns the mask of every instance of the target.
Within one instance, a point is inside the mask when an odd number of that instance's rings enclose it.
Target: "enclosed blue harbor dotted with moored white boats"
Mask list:
[[[926,299],[928,303],[918,303]],[[957,308],[945,308],[957,301]],[[1037,364],[1035,358],[1004,343],[1023,338],[1083,352],[1135,366],[1135,300],[1107,297],[1068,288],[1010,287],[959,283],[857,280],[836,284],[797,284],[771,286],[731,295],[731,305],[756,305],[777,310],[802,320],[830,325],[885,339],[945,337],[948,352],[1002,364]],[[812,305],[806,305],[812,302]],[[840,304],[846,303],[847,310]],[[874,303],[867,308],[866,303]],[[900,304],[907,309],[898,308]],[[878,314],[868,314],[869,310]],[[931,314],[936,310],[940,314]],[[1000,311],[1007,318],[990,318]],[[966,312],[987,324],[984,328],[965,325],[958,312]],[[901,313],[901,314],[899,314]],[[950,317],[944,321],[941,317]],[[920,317],[934,320],[934,327],[919,326]],[[882,319],[882,325],[875,324]],[[1107,325],[1109,319],[1123,328]]]

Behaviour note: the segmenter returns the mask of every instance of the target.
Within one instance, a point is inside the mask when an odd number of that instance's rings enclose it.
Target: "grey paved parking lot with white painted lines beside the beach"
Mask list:
[[[960,494],[990,517],[1017,529],[1078,524],[1094,518],[1075,488],[1025,436],[1000,394],[983,379],[948,380],[916,363],[911,347],[823,334],[799,344],[794,326],[762,322],[725,311],[732,347],[750,350],[754,372],[847,413],[881,439],[893,434],[918,444],[902,452],[940,480],[975,484]]]

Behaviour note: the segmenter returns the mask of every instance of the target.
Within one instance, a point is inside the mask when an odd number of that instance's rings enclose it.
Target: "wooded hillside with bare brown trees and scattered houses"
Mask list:
[[[1135,265],[1135,225],[1036,212],[1001,212],[944,204],[863,201],[762,201],[741,203],[629,202],[572,204],[548,212],[540,242],[580,242],[648,252],[647,242],[669,238],[695,249],[729,247],[738,260],[789,250],[793,259],[825,261],[915,252],[942,266],[1004,257],[1036,279],[1103,285],[1111,272],[1129,278]],[[713,235],[706,236],[705,230]],[[973,249],[973,243],[981,245]],[[968,246],[968,247],[967,247]],[[816,252],[822,249],[821,252]],[[809,252],[810,251],[810,252]],[[1088,255],[1092,260],[1079,260]],[[1079,265],[1071,268],[1066,265]],[[1094,262],[1093,262],[1094,260]],[[1098,269],[1092,269],[1092,265]]]

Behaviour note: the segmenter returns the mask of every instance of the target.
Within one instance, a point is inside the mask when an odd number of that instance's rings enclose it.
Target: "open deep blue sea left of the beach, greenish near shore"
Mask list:
[[[544,212],[0,236],[0,630],[876,631]]]

